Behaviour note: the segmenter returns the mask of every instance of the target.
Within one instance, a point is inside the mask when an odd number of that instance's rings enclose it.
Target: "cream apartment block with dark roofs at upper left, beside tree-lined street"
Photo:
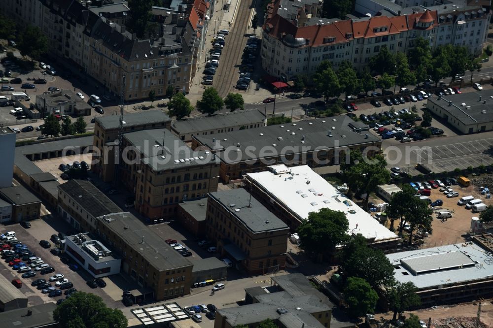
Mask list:
[[[149,39],[126,31],[131,13],[124,0],[18,2],[0,1],[0,8],[38,26],[48,37],[53,61],[57,57],[71,60],[107,92],[119,96],[126,75],[126,100],[147,98],[150,91],[163,97],[169,85],[176,92],[188,93],[198,48],[204,45],[205,0],[182,5],[173,14],[166,11]]]

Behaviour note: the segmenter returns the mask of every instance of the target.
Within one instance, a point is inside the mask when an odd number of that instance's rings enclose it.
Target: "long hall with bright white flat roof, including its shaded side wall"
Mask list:
[[[342,211],[349,221],[348,234],[361,234],[373,247],[392,248],[399,237],[339,192],[309,166],[269,166],[269,170],[248,173],[246,188],[291,230],[322,208]]]

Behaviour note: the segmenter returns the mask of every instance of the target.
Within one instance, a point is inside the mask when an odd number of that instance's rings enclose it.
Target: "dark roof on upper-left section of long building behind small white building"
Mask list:
[[[111,199],[106,197],[91,182],[85,180],[69,180],[58,187],[93,217],[122,212]]]

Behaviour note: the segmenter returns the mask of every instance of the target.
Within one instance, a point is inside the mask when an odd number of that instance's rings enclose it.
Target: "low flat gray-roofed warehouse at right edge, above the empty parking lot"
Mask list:
[[[473,91],[428,98],[426,108],[460,133],[493,130],[493,92]]]

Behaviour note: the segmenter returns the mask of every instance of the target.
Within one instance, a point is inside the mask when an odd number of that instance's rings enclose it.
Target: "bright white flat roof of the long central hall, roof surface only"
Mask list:
[[[276,166],[275,170],[286,171],[279,166]],[[376,241],[397,238],[395,233],[382,226],[308,165],[289,167],[287,172],[282,174],[268,170],[246,175],[250,181],[254,181],[278,202],[289,208],[300,221],[306,220],[310,212],[330,208],[346,213],[350,228],[348,234],[360,233],[367,239],[375,238]]]

